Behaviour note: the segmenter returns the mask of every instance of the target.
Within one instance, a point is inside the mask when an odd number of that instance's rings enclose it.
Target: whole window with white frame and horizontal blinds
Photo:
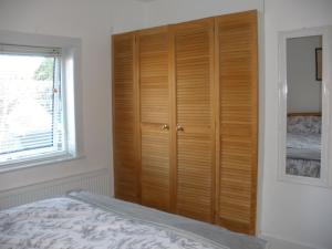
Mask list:
[[[0,170],[82,155],[79,49],[77,39],[0,31]]]

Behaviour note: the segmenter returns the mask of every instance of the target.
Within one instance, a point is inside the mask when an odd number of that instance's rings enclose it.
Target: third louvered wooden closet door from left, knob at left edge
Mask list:
[[[177,118],[176,211],[214,218],[214,19],[173,27]]]

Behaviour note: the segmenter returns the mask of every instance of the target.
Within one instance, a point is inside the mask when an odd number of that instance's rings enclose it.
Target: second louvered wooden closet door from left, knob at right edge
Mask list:
[[[142,204],[169,210],[169,86],[166,28],[137,34]]]

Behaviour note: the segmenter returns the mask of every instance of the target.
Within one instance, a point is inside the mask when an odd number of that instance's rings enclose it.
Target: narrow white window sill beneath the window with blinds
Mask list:
[[[20,163],[8,163],[0,165],[0,174],[1,173],[9,173],[9,172],[15,172],[20,169],[27,169],[38,166],[45,166],[45,165],[52,165],[52,164],[59,164],[59,163],[65,163],[76,159],[83,159],[85,158],[84,155],[61,155],[61,156],[54,156],[54,157],[48,157],[42,159],[31,159]]]

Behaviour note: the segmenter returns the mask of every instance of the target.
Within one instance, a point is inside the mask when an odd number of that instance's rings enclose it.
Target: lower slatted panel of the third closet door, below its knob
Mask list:
[[[212,136],[178,135],[177,212],[194,219],[212,219]]]

